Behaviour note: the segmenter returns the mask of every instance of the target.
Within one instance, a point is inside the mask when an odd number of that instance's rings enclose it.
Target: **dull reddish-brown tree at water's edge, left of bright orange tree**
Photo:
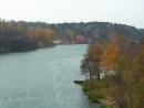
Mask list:
[[[100,79],[101,77],[100,56],[102,54],[102,44],[95,45],[96,43],[99,42],[95,42],[88,48],[88,54],[85,55],[81,65],[82,71],[89,73],[91,79]]]

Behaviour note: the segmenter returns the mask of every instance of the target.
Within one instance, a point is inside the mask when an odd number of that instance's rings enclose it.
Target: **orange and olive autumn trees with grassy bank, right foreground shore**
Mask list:
[[[112,108],[144,108],[143,50],[144,41],[127,36],[91,44],[81,65],[90,76],[83,85],[89,98]]]

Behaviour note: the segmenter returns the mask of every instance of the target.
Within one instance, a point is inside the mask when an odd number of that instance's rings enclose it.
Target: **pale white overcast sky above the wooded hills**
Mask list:
[[[0,0],[0,18],[49,23],[109,21],[144,28],[144,0]]]

